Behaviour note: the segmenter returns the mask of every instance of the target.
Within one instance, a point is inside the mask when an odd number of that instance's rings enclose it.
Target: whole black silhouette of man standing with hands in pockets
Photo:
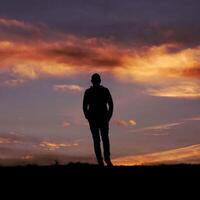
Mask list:
[[[104,166],[112,166],[110,159],[109,121],[113,114],[113,101],[107,88],[100,85],[101,77],[93,74],[91,78],[93,86],[85,91],[83,99],[83,112],[88,120],[94,142],[94,151],[97,162]],[[104,149],[104,161],[101,153],[101,139]]]

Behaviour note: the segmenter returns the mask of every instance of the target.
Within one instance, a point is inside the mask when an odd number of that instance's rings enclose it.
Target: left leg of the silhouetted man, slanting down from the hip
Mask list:
[[[100,135],[99,135],[99,128],[96,123],[89,122],[90,124],[90,130],[93,137],[93,143],[94,143],[94,151],[96,154],[97,162],[99,165],[103,166],[103,158],[101,153],[101,141],[100,141]]]

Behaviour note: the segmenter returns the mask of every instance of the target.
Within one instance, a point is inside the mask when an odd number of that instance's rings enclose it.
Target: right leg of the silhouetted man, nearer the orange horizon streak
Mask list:
[[[104,160],[108,166],[112,166],[110,160],[109,123],[108,122],[103,123],[100,127],[100,131],[104,148]]]

